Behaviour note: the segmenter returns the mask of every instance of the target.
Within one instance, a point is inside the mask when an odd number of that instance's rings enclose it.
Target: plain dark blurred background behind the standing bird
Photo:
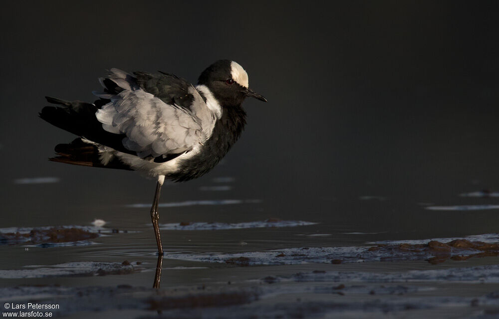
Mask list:
[[[74,137],[37,118],[43,97],[93,101],[111,67],[196,82],[228,58],[268,103],[246,101],[248,127],[224,162],[165,187],[162,202],[261,203],[197,206],[163,222],[279,217],[391,239],[497,231],[497,210],[418,204],[496,203],[458,195],[499,188],[497,1],[146,2],[2,4],[2,226],[147,223],[147,209],[123,205],[150,202],[153,180],[46,160]],[[60,182],[14,183],[43,176]],[[218,176],[234,177],[232,190],[200,190]]]

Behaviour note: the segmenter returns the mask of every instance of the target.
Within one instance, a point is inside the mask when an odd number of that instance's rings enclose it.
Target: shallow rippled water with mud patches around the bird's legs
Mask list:
[[[456,202],[463,197],[476,196]],[[225,198],[162,202],[159,290],[151,288],[160,260],[146,204],[116,206],[115,219],[1,228],[0,254],[9,257],[0,260],[0,301],[34,298],[71,318],[89,311],[98,318],[492,318],[499,311],[497,233],[423,237],[376,223],[336,224],[328,215],[282,220],[259,212],[263,200]],[[388,196],[357,201],[393,206]],[[488,205],[476,209],[494,212]],[[205,207],[215,213],[195,214]],[[255,213],[236,214],[245,210]],[[127,211],[136,214],[116,217]]]

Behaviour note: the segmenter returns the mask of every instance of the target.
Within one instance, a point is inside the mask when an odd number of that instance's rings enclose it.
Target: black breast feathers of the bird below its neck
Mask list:
[[[209,172],[229,152],[246,125],[246,112],[241,106],[224,107],[213,134],[204,143],[202,151],[179,164],[179,170],[168,174],[168,179],[186,181]]]

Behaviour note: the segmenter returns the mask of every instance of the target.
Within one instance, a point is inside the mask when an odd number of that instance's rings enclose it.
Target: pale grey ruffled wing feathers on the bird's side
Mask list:
[[[194,93],[191,111],[146,92],[130,74],[111,71],[109,78],[116,84],[111,89],[117,94],[97,111],[96,117],[105,131],[126,136],[126,149],[141,158],[166,157],[191,150],[207,139],[215,120],[210,120],[213,116],[194,87],[188,89],[189,94]]]

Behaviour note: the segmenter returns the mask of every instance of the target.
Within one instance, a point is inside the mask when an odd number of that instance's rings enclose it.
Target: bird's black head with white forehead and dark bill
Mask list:
[[[218,60],[201,73],[198,85],[206,85],[222,106],[241,105],[247,97],[267,100],[250,90],[248,73],[238,63]]]

